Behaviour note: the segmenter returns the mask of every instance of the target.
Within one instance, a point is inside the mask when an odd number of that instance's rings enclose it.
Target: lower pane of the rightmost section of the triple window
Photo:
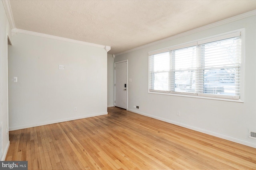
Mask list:
[[[204,93],[238,96],[238,72],[236,68],[204,70]]]

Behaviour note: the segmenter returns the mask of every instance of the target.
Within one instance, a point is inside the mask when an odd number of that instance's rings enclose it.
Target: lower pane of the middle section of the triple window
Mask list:
[[[196,83],[195,71],[179,71],[174,72],[175,84],[174,92],[189,92],[194,93]]]

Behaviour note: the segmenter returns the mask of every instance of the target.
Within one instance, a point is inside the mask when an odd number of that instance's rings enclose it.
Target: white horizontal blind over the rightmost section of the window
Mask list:
[[[200,45],[203,91],[200,95],[219,94],[239,98],[241,38],[232,37]],[[233,96],[233,97],[232,97]]]

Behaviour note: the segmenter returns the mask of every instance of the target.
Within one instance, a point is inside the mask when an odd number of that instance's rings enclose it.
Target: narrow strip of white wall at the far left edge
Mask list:
[[[10,40],[11,29],[4,9],[3,2],[0,1],[0,123],[3,126],[3,156],[4,160],[10,145],[8,129],[8,36]],[[0,146],[1,147],[1,146]]]

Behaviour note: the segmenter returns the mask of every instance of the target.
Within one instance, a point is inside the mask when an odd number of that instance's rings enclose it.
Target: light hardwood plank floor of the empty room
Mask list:
[[[256,169],[256,149],[109,107],[108,115],[10,131],[30,170]]]

